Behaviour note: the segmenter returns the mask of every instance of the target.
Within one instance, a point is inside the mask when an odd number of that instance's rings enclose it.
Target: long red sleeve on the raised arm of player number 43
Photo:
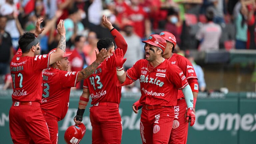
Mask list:
[[[112,36],[114,37],[116,46],[123,50],[123,53],[125,55],[127,51],[127,43],[124,40],[124,37],[114,28],[111,31]]]

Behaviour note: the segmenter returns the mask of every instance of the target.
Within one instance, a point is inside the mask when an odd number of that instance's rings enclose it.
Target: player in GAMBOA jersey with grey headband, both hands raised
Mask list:
[[[21,50],[15,54],[10,69],[13,81],[12,106],[9,125],[14,144],[26,144],[32,139],[36,144],[51,144],[49,130],[42,114],[42,70],[60,60],[66,49],[64,21],[58,24],[60,42],[53,54],[39,55],[40,46],[36,38],[44,30],[40,28],[42,18],[36,23],[36,32],[24,33],[19,38]]]

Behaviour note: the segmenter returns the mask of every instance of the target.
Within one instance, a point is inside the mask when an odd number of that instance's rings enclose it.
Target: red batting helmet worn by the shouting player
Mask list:
[[[156,47],[159,47],[163,50],[166,48],[166,40],[158,34],[153,34],[148,37],[148,40],[142,41],[143,43],[147,43]]]

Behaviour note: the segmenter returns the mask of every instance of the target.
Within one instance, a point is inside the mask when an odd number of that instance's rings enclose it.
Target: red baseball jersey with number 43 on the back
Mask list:
[[[84,80],[84,88],[89,88],[91,104],[98,102],[120,103],[121,87],[116,86],[116,66],[113,55],[104,60],[95,72]]]

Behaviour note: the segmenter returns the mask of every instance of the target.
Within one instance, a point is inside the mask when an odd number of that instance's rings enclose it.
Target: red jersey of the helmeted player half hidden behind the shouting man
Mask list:
[[[191,79],[191,78],[197,79],[196,72],[193,68],[193,65],[184,56],[174,53],[168,60],[172,64],[177,65],[183,71],[183,73],[187,79]],[[194,87],[194,88],[198,88],[198,86]],[[180,98],[184,98],[184,94],[183,94],[182,90],[178,91],[178,99],[180,99]]]

